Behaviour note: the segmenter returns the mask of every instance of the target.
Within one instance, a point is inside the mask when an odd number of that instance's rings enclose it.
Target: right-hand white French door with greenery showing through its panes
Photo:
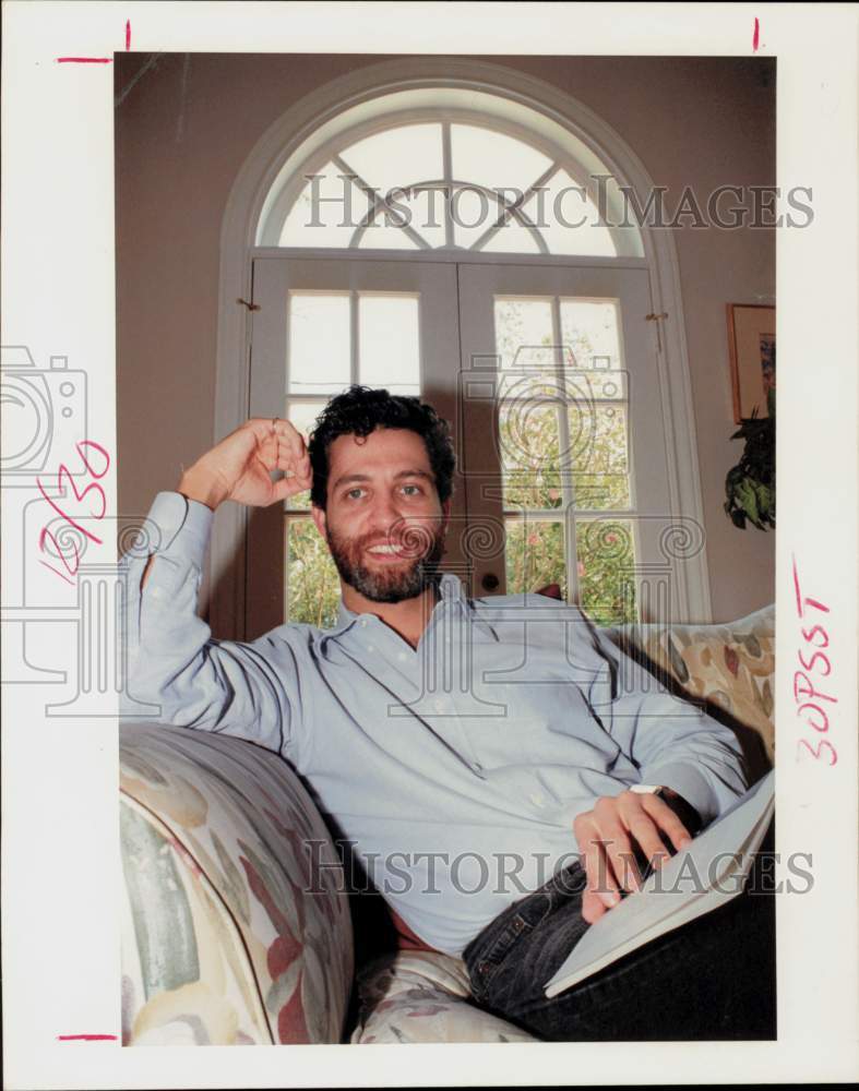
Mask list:
[[[477,594],[559,585],[605,623],[671,612],[664,383],[646,269],[460,266]],[[491,440],[490,440],[491,437]]]

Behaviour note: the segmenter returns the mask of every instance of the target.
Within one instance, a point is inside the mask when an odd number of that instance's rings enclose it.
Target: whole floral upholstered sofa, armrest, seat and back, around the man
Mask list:
[[[772,607],[731,624],[608,635],[737,731],[752,780],[766,771]],[[460,959],[393,946],[356,976],[354,898],[310,795],[277,755],[127,722],[120,760],[124,1044],[533,1041],[470,1002]],[[312,876],[309,843],[321,864]]]

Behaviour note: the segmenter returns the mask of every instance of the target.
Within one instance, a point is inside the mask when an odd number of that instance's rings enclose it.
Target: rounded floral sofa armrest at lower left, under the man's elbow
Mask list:
[[[120,799],[123,1040],[339,1042],[348,899],[289,765],[240,740],[127,723]]]

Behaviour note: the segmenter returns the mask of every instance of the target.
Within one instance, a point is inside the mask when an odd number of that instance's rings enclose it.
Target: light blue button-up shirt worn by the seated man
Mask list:
[[[603,795],[664,784],[705,823],[745,789],[736,736],[678,700],[572,606],[467,599],[457,576],[417,649],[373,614],[212,638],[196,615],[213,513],[175,492],[160,544],[127,561],[129,691],[160,720],[287,758],[406,924],[460,955],[577,853]],[[318,849],[308,847],[309,855]],[[318,856],[317,856],[318,859]]]

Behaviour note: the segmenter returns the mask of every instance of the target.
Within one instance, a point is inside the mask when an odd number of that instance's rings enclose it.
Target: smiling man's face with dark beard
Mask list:
[[[341,435],[329,470],[326,511],[311,514],[343,582],[372,602],[420,595],[441,560],[450,511],[423,440],[408,429]]]

